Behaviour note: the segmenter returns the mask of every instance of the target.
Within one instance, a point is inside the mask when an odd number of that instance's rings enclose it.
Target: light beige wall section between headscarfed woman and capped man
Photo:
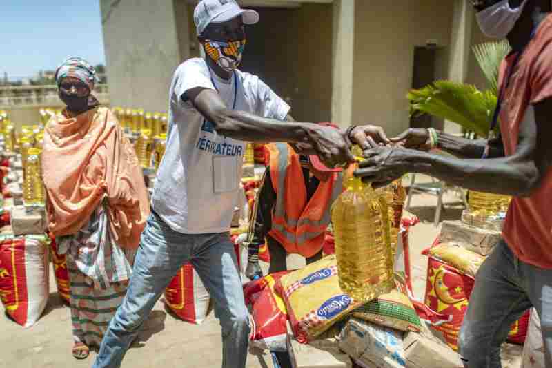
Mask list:
[[[179,42],[188,27],[175,21],[186,6],[174,1],[101,0],[112,106],[167,110],[172,73],[188,57]]]

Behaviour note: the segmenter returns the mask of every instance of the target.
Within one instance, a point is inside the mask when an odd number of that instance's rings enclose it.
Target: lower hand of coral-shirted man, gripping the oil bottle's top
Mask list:
[[[396,147],[378,147],[366,151],[355,176],[379,188],[408,172],[408,158],[414,151]]]

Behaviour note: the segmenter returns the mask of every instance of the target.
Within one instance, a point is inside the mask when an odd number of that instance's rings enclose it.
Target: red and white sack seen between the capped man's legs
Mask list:
[[[168,284],[165,305],[181,320],[196,325],[208,316],[209,293],[191,263],[184,264]]]

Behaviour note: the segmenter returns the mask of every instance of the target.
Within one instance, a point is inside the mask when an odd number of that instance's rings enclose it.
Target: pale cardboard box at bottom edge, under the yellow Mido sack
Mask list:
[[[337,343],[333,349],[317,349],[311,345],[299,344],[296,340],[289,340],[293,368],[352,368],[353,362],[347,354],[339,351]]]

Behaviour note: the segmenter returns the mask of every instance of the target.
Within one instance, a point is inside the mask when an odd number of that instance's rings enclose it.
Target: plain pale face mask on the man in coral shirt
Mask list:
[[[503,39],[513,30],[517,19],[520,19],[526,2],[524,0],[520,6],[512,9],[508,0],[502,0],[478,12],[477,23],[486,36]]]

